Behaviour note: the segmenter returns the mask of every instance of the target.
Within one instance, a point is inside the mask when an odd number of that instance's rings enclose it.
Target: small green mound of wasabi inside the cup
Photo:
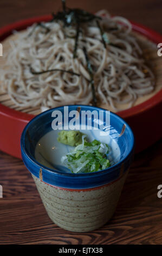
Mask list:
[[[57,141],[72,147],[82,144],[83,133],[80,131],[61,131]]]

